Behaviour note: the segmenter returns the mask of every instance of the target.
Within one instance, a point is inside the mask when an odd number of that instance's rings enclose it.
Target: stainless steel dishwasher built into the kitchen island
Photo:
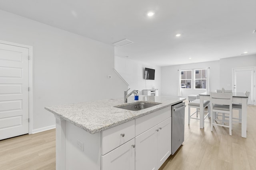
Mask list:
[[[185,102],[172,106],[172,155],[184,142]]]

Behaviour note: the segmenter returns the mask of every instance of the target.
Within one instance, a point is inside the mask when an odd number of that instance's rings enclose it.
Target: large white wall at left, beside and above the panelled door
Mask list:
[[[55,125],[44,106],[122,98],[111,45],[2,10],[0,23],[0,40],[33,47],[33,131]]]

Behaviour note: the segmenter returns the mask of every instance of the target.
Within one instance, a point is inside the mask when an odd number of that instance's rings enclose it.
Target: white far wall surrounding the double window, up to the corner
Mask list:
[[[210,90],[216,90],[220,84],[219,61],[182,64],[182,65],[174,65],[174,66],[163,66],[161,70],[162,72],[161,95],[162,96],[178,96],[178,88],[180,88],[180,86],[178,86],[178,81],[179,81],[178,70],[208,68],[208,67],[210,67]],[[194,81],[192,81],[192,83],[193,82]],[[200,94],[203,92],[206,92],[206,90],[194,89],[194,88],[182,89],[182,97],[188,98],[188,95],[190,94]]]

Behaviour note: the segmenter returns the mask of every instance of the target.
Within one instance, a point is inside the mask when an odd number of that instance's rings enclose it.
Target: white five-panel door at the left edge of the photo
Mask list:
[[[29,132],[28,48],[0,43],[0,140]]]

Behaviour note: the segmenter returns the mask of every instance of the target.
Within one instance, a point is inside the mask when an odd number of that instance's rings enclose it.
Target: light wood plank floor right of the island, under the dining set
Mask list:
[[[232,136],[226,127],[215,126],[211,132],[208,118],[204,129],[199,128],[199,120],[190,119],[188,125],[186,107],[183,146],[160,170],[256,170],[256,106],[247,106],[247,111],[247,138],[242,138],[241,123],[232,124]],[[238,117],[238,111],[233,113]]]

